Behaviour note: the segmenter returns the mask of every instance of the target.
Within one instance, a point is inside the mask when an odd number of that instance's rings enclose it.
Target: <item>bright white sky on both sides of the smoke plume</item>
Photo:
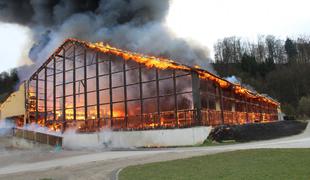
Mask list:
[[[176,36],[208,47],[212,58],[224,37],[310,35],[309,7],[309,0],[172,0],[165,23]],[[0,72],[27,59],[30,37],[27,27],[0,23]]]

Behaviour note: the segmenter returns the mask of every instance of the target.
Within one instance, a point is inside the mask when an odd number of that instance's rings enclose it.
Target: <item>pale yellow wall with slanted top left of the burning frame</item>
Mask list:
[[[0,106],[0,120],[25,114],[25,86],[21,84]]]

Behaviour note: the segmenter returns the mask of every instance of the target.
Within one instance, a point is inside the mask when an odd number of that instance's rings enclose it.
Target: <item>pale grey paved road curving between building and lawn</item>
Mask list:
[[[0,168],[0,179],[110,179],[118,169],[136,164],[257,148],[310,148],[310,125],[287,138],[214,147],[107,151]]]

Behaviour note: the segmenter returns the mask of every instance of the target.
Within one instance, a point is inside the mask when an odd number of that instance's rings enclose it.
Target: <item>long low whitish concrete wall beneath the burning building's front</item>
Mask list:
[[[63,147],[81,149],[189,146],[202,144],[210,131],[211,127],[201,126],[148,131],[103,130],[93,134],[66,133],[63,136]]]

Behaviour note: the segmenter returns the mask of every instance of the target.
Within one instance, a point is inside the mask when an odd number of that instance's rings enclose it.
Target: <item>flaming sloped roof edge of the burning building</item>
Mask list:
[[[53,55],[58,54],[62,47],[64,47],[68,43],[74,43],[78,45],[82,45],[86,48],[93,49],[95,51],[103,52],[104,54],[111,54],[115,56],[122,57],[125,60],[133,60],[137,63],[143,64],[146,67],[152,68],[158,68],[158,69],[176,69],[176,70],[183,70],[183,71],[194,71],[199,74],[199,77],[201,79],[210,80],[216,84],[218,84],[223,89],[232,89],[236,94],[245,96],[250,99],[256,99],[261,102],[267,102],[273,105],[278,106],[279,103],[269,97],[263,96],[258,93],[254,93],[250,91],[249,89],[246,89],[242,87],[239,84],[231,83],[221,77],[218,77],[215,74],[212,74],[204,69],[198,68],[198,67],[190,67],[187,65],[176,63],[175,61],[167,58],[162,57],[156,57],[156,56],[148,56],[140,53],[130,52],[126,50],[122,50],[116,47],[112,47],[108,44],[99,42],[99,43],[90,43],[85,42],[77,39],[67,39],[65,42],[54,52]],[[53,58],[53,55],[50,57],[50,59]],[[44,66],[44,64],[43,64]]]

